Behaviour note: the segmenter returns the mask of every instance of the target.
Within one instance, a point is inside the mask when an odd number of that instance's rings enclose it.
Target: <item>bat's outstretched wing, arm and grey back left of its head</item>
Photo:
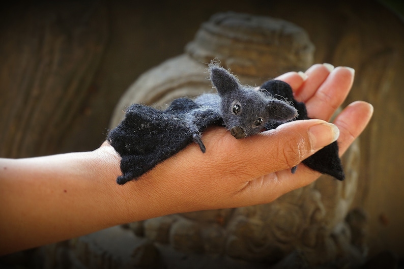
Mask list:
[[[122,185],[136,180],[192,141],[205,152],[201,132],[220,122],[218,113],[187,98],[176,99],[164,111],[131,105],[123,121],[107,137],[122,158],[122,175],[117,183]]]

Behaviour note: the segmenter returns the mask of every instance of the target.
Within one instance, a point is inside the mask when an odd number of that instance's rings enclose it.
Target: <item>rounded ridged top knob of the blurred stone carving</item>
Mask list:
[[[241,13],[219,13],[203,23],[186,52],[202,63],[217,57],[236,74],[266,77],[303,70],[313,62],[314,45],[291,22]]]

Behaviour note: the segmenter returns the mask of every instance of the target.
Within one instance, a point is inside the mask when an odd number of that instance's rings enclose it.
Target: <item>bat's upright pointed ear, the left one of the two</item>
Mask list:
[[[212,84],[217,89],[220,96],[237,91],[239,88],[238,79],[224,68],[211,66],[209,72]]]

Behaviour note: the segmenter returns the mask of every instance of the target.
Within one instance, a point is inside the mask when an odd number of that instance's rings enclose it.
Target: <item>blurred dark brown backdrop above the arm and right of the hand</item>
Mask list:
[[[0,157],[91,151],[144,72],[184,53],[218,12],[302,27],[314,63],[356,70],[346,104],[375,113],[360,138],[358,193],[369,255],[404,257],[404,4],[391,1],[16,1],[0,10]],[[291,70],[292,71],[292,70]],[[300,71],[300,70],[295,70]],[[303,70],[304,71],[304,70]]]

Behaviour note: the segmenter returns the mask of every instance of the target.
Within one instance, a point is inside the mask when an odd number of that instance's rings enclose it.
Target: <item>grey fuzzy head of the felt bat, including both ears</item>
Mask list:
[[[224,125],[235,138],[261,132],[267,122],[287,122],[297,116],[297,110],[290,103],[241,85],[224,68],[211,65],[209,71],[212,84],[221,98]]]

